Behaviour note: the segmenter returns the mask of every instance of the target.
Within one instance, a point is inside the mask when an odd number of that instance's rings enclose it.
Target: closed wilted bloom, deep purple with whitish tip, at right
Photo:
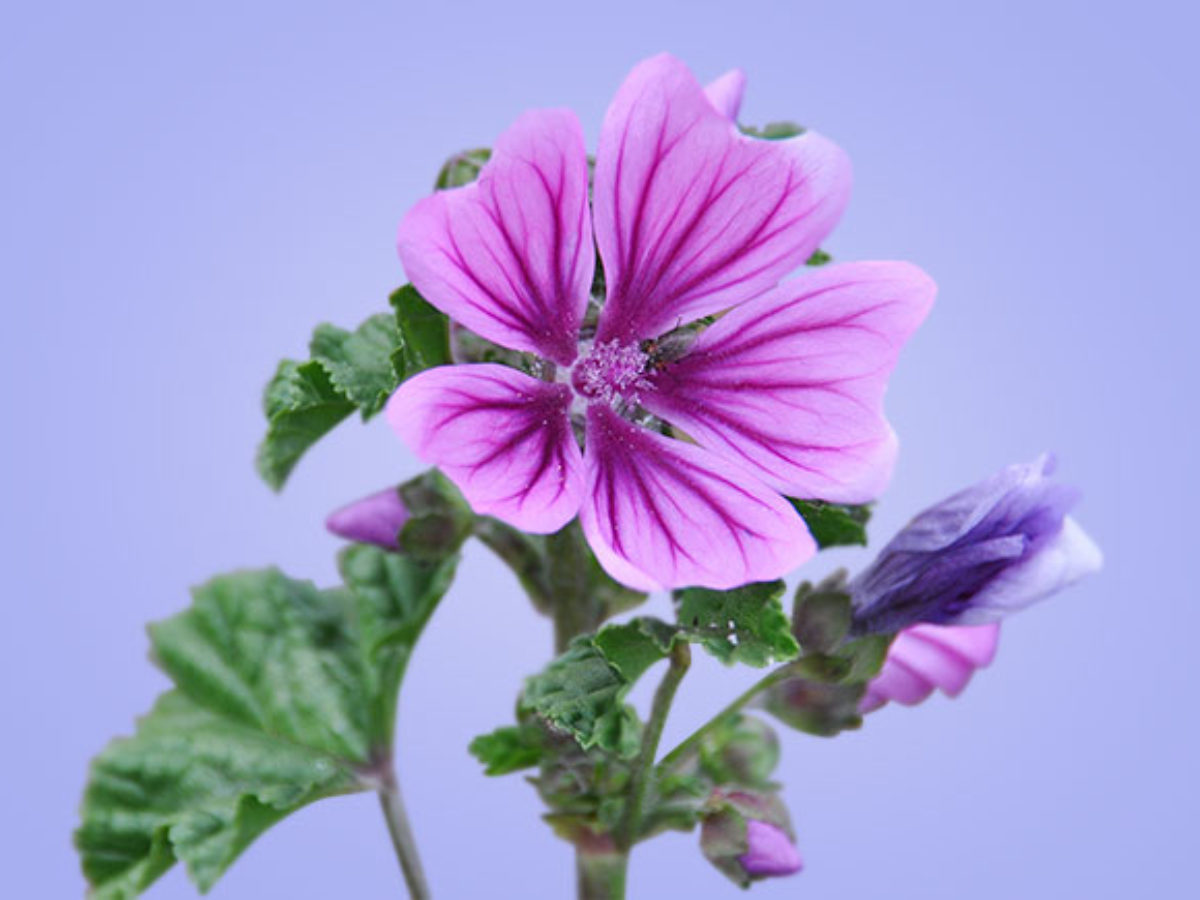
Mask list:
[[[848,589],[856,634],[918,622],[983,625],[1100,568],[1067,516],[1078,493],[1054,484],[1049,456],[1009,466],[910,522]]]

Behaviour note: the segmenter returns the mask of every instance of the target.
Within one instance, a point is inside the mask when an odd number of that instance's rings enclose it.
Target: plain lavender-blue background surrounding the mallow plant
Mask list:
[[[142,631],[186,588],[277,563],[328,581],[335,505],[418,470],[347,425],[272,496],[259,389],[319,320],[402,281],[392,235],[443,156],[523,108],[594,142],[638,59],[750,74],[856,163],[839,258],[940,282],[889,395],[902,456],[872,526],[1043,449],[1084,486],[1102,576],[1006,626],[956,702],[836,742],[786,736],[809,869],[760,898],[1180,895],[1194,871],[1190,686],[1200,158],[1183,4],[460,0],[24,4],[0,29],[6,859],[66,898],[88,758],[164,680]],[[858,565],[829,554],[811,566]],[[666,611],[662,598],[653,611]],[[499,640],[496,640],[496,637]],[[548,625],[472,547],[402,700],[400,767],[439,898],[564,898],[565,845],[469,738],[505,720]],[[704,660],[670,745],[749,672]],[[644,695],[641,697],[644,701]],[[374,799],[259,840],[214,898],[400,896]],[[632,898],[737,896],[694,835],[640,848]],[[151,898],[193,896],[180,870]]]

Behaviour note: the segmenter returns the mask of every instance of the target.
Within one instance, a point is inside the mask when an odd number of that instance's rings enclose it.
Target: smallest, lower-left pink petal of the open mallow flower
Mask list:
[[[396,389],[388,422],[475,512],[545,534],[575,516],[583,492],[570,402],[566,385],[508,366],[440,366]]]

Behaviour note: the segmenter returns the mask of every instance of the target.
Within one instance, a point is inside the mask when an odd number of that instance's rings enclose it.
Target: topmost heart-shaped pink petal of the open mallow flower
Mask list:
[[[773,287],[817,248],[848,192],[850,163],[824,138],[748,138],[679,60],[642,62],[596,151],[599,338],[655,337]]]

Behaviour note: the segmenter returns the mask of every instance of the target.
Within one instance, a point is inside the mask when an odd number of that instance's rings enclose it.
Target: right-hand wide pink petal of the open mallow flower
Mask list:
[[[822,266],[701,332],[643,403],[788,496],[874,499],[896,449],[883,391],[934,293],[907,263]]]

